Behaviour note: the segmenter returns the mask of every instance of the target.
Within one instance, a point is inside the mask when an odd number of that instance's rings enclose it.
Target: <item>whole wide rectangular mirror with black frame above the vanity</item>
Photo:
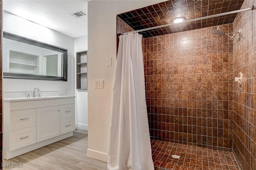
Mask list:
[[[67,81],[68,50],[3,33],[4,78]]]

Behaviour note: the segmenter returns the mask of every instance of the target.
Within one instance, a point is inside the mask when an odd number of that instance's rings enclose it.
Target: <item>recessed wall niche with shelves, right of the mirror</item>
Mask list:
[[[87,51],[76,53],[76,89],[87,90]]]

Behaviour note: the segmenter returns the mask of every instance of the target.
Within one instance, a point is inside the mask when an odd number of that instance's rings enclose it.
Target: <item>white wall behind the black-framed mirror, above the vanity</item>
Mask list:
[[[74,95],[74,38],[30,22],[8,12],[3,13],[3,31],[68,49],[68,81],[42,81],[25,79],[4,79],[4,92],[60,91],[60,95]]]

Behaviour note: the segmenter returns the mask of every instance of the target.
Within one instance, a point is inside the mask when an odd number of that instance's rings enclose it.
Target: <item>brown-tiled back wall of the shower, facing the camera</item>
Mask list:
[[[210,28],[144,39],[153,139],[232,148],[233,41]],[[220,28],[233,32],[232,24]]]

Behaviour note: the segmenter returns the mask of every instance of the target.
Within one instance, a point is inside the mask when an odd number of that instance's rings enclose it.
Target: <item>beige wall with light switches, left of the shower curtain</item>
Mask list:
[[[163,1],[163,0],[162,0]],[[88,150],[87,156],[107,161],[112,83],[116,64],[116,15],[156,4],[157,0],[88,2]],[[112,57],[112,66],[106,66]],[[103,79],[104,89],[94,89]]]

